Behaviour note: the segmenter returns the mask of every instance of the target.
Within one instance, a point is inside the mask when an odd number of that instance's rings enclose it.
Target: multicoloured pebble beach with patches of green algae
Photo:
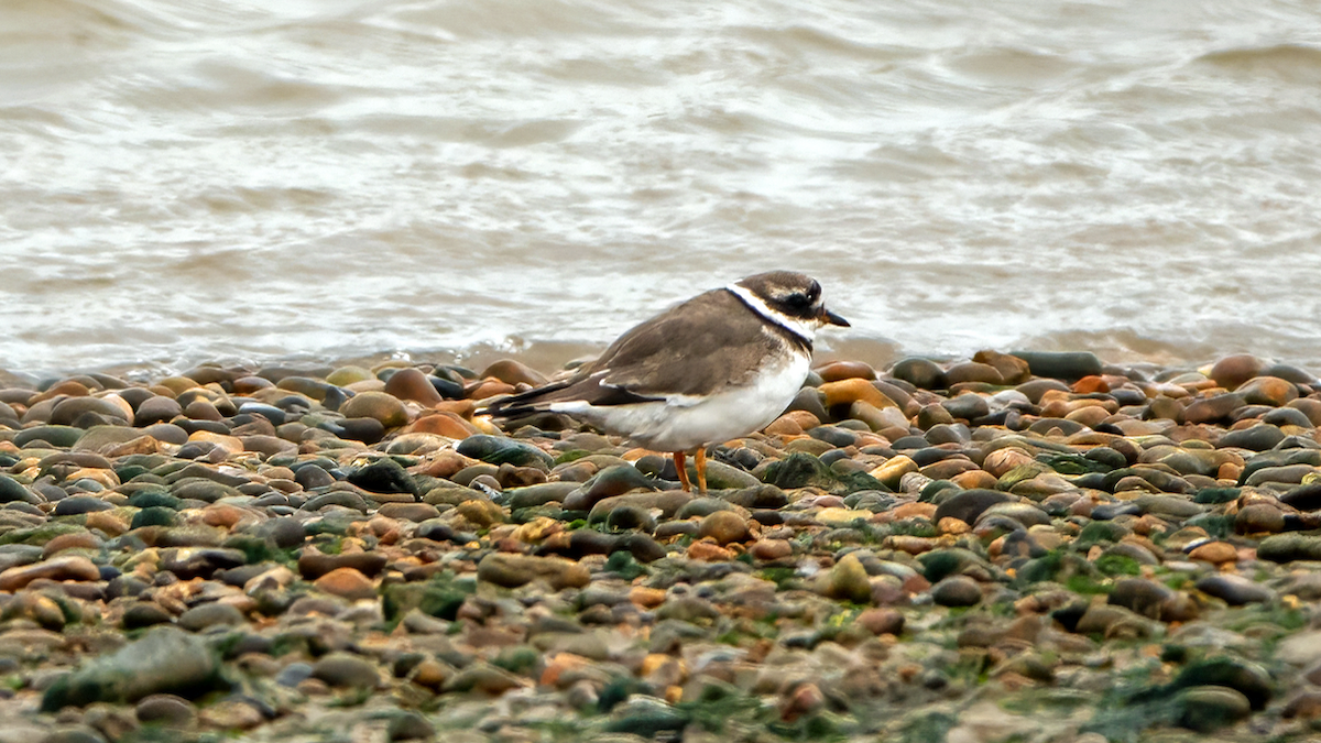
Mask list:
[[[1310,369],[834,361],[707,493],[559,373],[4,378],[0,743],[1321,739]]]

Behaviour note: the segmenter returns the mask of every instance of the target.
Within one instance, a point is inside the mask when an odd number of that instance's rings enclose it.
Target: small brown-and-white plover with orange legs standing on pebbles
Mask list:
[[[497,420],[565,414],[633,446],[670,452],[687,492],[691,452],[697,489],[705,492],[705,447],[760,431],[789,407],[826,325],[849,323],[826,308],[815,279],[756,274],[641,323],[565,379],[478,412]]]

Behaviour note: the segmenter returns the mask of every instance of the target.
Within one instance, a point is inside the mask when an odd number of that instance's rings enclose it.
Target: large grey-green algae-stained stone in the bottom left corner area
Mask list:
[[[85,661],[41,698],[41,710],[92,702],[136,702],[151,694],[199,697],[223,682],[210,645],[173,627],[153,627],[118,652]]]

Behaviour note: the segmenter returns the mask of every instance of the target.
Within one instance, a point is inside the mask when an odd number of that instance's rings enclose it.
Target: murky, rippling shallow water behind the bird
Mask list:
[[[1321,370],[1310,3],[11,0],[0,369],[600,348],[812,272],[892,358]]]

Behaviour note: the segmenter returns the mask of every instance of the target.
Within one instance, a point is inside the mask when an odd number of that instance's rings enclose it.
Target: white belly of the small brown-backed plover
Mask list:
[[[551,410],[581,418],[655,451],[691,451],[758,431],[794,401],[811,358],[793,354],[758,374],[756,383],[711,397],[671,395],[664,401],[593,407],[555,403]]]

